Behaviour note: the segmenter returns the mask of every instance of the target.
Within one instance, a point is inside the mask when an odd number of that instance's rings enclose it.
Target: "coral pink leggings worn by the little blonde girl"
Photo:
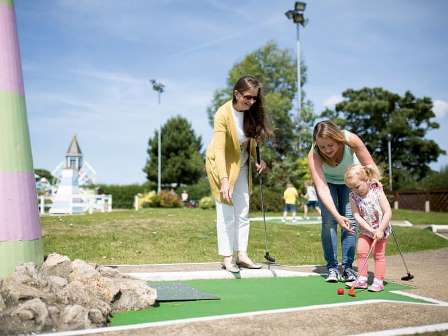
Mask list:
[[[358,272],[360,275],[367,277],[368,264],[360,269],[366,262],[367,254],[373,244],[373,238],[360,235],[358,238]],[[386,239],[378,240],[373,248],[372,254],[375,259],[375,278],[383,280],[386,273]]]

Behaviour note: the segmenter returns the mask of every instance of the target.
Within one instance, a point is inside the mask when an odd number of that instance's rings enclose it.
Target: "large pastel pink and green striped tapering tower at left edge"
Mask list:
[[[43,261],[13,0],[0,0],[0,278]]]

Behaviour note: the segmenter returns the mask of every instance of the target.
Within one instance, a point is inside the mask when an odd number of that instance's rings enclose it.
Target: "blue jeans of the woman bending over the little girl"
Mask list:
[[[350,189],[345,184],[328,183],[330,188],[331,198],[338,212],[350,220],[351,227],[356,232],[356,221],[352,215],[350,207],[349,193]],[[322,248],[324,250],[324,257],[327,261],[327,268],[338,269],[338,224],[336,219],[331,215],[330,211],[324,206],[319,199],[322,209]],[[341,246],[342,246],[342,268],[352,268],[353,260],[355,259],[356,251],[356,233],[349,233],[345,229],[341,229]]]

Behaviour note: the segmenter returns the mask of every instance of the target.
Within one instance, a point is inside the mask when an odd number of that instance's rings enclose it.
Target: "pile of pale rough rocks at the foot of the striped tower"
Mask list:
[[[53,253],[0,279],[0,336],[107,325],[112,311],[155,303],[156,291],[116,269]]]

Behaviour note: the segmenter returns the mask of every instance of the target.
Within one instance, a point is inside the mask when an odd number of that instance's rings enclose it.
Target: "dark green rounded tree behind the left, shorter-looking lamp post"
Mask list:
[[[158,131],[148,140],[148,159],[143,171],[149,181],[157,181]],[[162,183],[194,184],[203,175],[202,138],[196,136],[187,119],[177,116],[162,127]]]

